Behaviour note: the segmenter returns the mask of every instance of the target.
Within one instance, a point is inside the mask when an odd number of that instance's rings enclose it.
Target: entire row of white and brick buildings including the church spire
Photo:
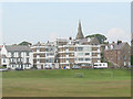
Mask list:
[[[131,65],[131,47],[126,42],[100,44],[96,37],[85,38],[81,22],[75,38],[57,38],[31,46],[2,45],[0,52],[1,66],[11,69],[44,69],[45,66],[72,68],[73,65],[92,68],[94,63],[101,63],[102,58],[119,67]]]

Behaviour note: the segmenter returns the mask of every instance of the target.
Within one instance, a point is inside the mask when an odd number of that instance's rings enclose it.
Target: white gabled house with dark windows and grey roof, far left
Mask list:
[[[29,46],[3,45],[1,65],[11,69],[30,69],[33,66],[33,53]]]

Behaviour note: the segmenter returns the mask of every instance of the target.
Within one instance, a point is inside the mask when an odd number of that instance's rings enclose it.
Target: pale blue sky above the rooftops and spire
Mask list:
[[[4,2],[0,11],[1,44],[75,38],[79,20],[84,36],[101,33],[110,42],[131,41],[130,2]]]

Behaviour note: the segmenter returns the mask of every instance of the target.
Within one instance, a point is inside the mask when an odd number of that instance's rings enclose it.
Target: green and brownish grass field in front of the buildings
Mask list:
[[[3,97],[130,97],[131,70],[51,69],[2,73]]]

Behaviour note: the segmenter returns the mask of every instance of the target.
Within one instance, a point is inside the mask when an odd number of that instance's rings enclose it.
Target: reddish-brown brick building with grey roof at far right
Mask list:
[[[131,65],[131,47],[126,42],[117,41],[105,46],[104,58],[117,67]]]

